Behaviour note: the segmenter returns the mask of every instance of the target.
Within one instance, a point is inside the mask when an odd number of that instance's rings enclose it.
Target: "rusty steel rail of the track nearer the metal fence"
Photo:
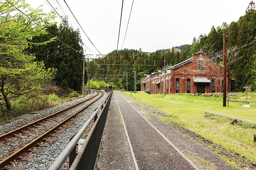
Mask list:
[[[98,93],[99,94],[99,93]],[[98,95],[97,94],[97,95]],[[68,122],[70,119],[72,119],[73,117],[75,117],[77,114],[79,114],[80,112],[82,112],[86,107],[90,106],[92,103],[94,103],[95,101],[97,101],[98,99],[100,99],[100,97],[103,95],[103,93],[101,93],[101,95],[94,101],[90,102],[88,105],[86,105],[84,108],[80,109],[79,111],[77,111],[75,114],[69,116],[67,119],[65,119],[64,121],[60,122],[59,124],[57,124],[56,126],[54,126],[52,129],[48,130],[47,132],[45,132],[44,134],[38,136],[36,139],[34,139],[33,141],[29,142],[28,144],[26,144],[25,146],[23,146],[22,148],[20,148],[19,150],[17,150],[16,152],[12,153],[10,156],[8,156],[7,158],[3,159],[0,162],[0,169],[4,168],[4,166],[7,166],[9,164],[10,161],[19,158],[22,154],[25,154],[30,148],[33,148],[36,144],[38,144],[38,142],[42,141],[44,138],[46,138],[47,136],[49,136],[52,132],[54,132],[56,129],[60,128],[60,126],[62,126],[63,124],[65,124],[66,122]],[[95,97],[95,96],[94,96]]]

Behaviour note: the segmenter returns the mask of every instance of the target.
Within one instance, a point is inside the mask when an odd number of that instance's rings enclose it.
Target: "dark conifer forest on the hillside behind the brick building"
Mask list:
[[[166,60],[166,65],[175,65],[197,53],[202,49],[210,58],[218,58],[222,65],[223,59],[223,30],[226,30],[226,55],[227,68],[231,70],[231,78],[235,80],[235,91],[242,92],[245,85],[249,85],[251,91],[256,90],[255,64],[256,64],[256,11],[255,3],[250,2],[246,13],[241,16],[237,22],[231,22],[229,25],[223,22],[222,26],[212,26],[208,35],[199,35],[194,37],[191,45],[181,45],[170,49],[159,49],[153,53],[143,52],[140,48],[123,49],[112,51],[107,57],[117,56],[123,59],[132,60]],[[180,48],[180,50],[177,50]],[[124,66],[124,65],[94,65],[88,61],[88,68],[91,69],[92,80],[104,80],[111,82],[119,89],[126,89],[126,72],[128,74],[128,89],[134,90],[134,80],[136,72],[136,89],[140,89],[140,79],[144,74],[151,74],[154,71],[162,69],[164,63],[158,63],[156,66]],[[90,70],[87,70],[88,72]]]

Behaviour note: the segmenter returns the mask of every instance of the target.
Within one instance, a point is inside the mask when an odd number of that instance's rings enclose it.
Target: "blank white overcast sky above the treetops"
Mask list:
[[[27,0],[31,7],[44,4],[45,12],[50,8],[46,0]],[[68,19],[75,28],[76,20],[64,0],[48,0],[56,7],[62,4]],[[194,37],[208,34],[214,25],[230,24],[245,14],[251,0],[134,0],[127,34],[125,30],[132,0],[124,0],[118,50],[122,48],[154,52],[183,44],[191,44]],[[122,0],[66,0],[85,33],[101,54],[116,50],[120,24]],[[58,9],[60,12],[60,9]],[[62,15],[60,13],[60,15]],[[59,18],[56,18],[60,22]],[[80,28],[79,28],[80,29]],[[99,52],[80,29],[86,54]],[[96,56],[94,56],[96,57]]]

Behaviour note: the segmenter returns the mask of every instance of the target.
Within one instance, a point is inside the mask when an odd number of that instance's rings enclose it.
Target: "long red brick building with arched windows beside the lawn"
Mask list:
[[[164,69],[163,69],[164,70]],[[173,66],[167,66],[165,72],[158,70],[141,79],[141,91],[151,94],[169,93],[211,93],[223,91],[223,67],[211,62],[203,51]],[[227,70],[227,92],[231,92],[231,71]]]

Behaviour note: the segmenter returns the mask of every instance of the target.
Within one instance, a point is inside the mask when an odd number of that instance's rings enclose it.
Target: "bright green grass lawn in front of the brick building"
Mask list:
[[[130,92],[124,92],[131,95]],[[256,95],[255,95],[256,96]],[[147,94],[146,92],[132,93],[132,97],[157,108],[171,116],[163,118],[165,122],[178,122],[185,128],[220,144],[226,149],[244,155],[247,159],[256,161],[256,143],[253,135],[256,129],[247,126],[232,125],[232,120],[222,116],[204,114],[205,110],[211,110],[226,115],[232,115],[252,121],[256,121],[256,105],[250,108],[243,107],[242,103],[230,102],[228,106],[222,106],[222,97],[189,96],[180,94]],[[241,96],[244,98],[244,95]],[[254,94],[248,97],[251,102]],[[236,100],[241,100],[239,97]],[[242,99],[244,100],[244,99]]]

